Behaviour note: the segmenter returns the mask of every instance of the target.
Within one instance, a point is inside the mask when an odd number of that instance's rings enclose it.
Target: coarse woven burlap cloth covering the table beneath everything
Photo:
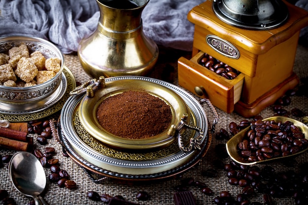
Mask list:
[[[177,81],[177,60],[184,56],[186,58],[190,58],[189,52],[174,50],[174,49],[166,49],[159,48],[159,58],[154,67],[153,72],[149,74],[149,77],[161,79],[164,81],[168,81],[178,85]],[[65,65],[72,71],[77,82],[84,83],[91,78],[83,71],[78,57],[76,54],[64,55]],[[299,84],[299,90],[301,90],[301,95],[292,96],[291,104],[289,106],[285,106],[284,108],[288,111],[290,117],[290,111],[292,108],[301,109],[306,115],[308,114],[308,95],[307,95],[307,79],[308,79],[308,48],[302,45],[298,46],[295,64],[294,64],[294,72],[301,79]],[[283,71],[281,71],[283,72]],[[304,90],[304,92],[302,91]],[[200,100],[197,96],[194,96],[196,99]],[[214,116],[211,113],[209,107],[204,104],[203,105],[205,112],[207,114],[207,118],[210,123],[213,122]],[[241,120],[245,119],[237,115],[236,113],[227,114],[217,109],[219,114],[219,121],[216,125],[216,132],[219,131],[220,128],[224,128],[227,131],[228,125],[230,122],[234,121],[239,123]],[[271,117],[275,115],[272,106],[263,110],[260,115],[263,118]],[[301,118],[295,119],[301,120]],[[235,198],[238,194],[242,193],[243,188],[238,186],[232,186],[228,183],[228,178],[226,176],[226,172],[220,169],[217,169],[213,165],[213,161],[219,159],[216,155],[215,148],[218,144],[224,144],[226,141],[216,140],[215,135],[216,132],[212,136],[211,146],[209,151],[205,155],[205,157],[201,160],[199,166],[192,168],[188,172],[184,174],[185,177],[193,177],[195,180],[202,181],[207,184],[214,191],[213,196],[207,196],[201,192],[199,188],[189,187],[189,190],[192,191],[196,204],[198,205],[213,205],[214,197],[219,195],[220,191],[229,191],[232,196]],[[46,146],[40,146],[36,144],[38,148],[44,149]],[[43,196],[47,202],[51,205],[102,205],[102,202],[94,202],[89,200],[86,197],[86,193],[88,191],[96,191],[99,194],[109,194],[111,196],[121,195],[125,200],[139,203],[141,205],[173,205],[173,194],[176,192],[175,187],[181,184],[180,179],[168,179],[164,181],[150,181],[144,184],[123,184],[114,182],[112,180],[106,180],[102,184],[94,183],[87,173],[76,165],[71,158],[67,158],[62,156],[62,146],[56,142],[56,140],[52,139],[49,141],[47,146],[56,147],[57,154],[54,158],[58,158],[60,160],[60,167],[65,169],[70,178],[77,183],[77,188],[74,190],[69,190],[67,188],[61,188],[56,183],[50,182],[48,185],[48,189],[46,194]],[[12,154],[14,152],[6,149],[1,149],[1,155],[4,154]],[[308,161],[308,153],[304,153],[295,158],[296,163],[291,166],[286,166],[284,163],[277,162],[271,164],[277,171],[286,171],[286,170],[294,170],[297,171],[300,164]],[[229,157],[222,159],[224,163],[228,163],[231,161]],[[258,165],[260,167],[265,165]],[[202,175],[202,172],[207,169],[216,169],[217,176],[216,177],[205,177]],[[45,169],[46,176],[50,173],[50,171]],[[7,168],[0,168],[0,189],[6,189],[9,192],[9,196],[14,198],[15,202],[18,205],[27,205],[31,198],[25,197],[21,193],[19,193],[12,185],[12,182],[8,175]],[[137,201],[136,194],[139,191],[146,191],[151,196],[150,200],[147,201]],[[263,203],[262,194],[255,194],[253,198],[249,198],[251,202],[258,201]],[[294,205],[294,199],[291,197],[286,198],[275,198],[276,205]]]

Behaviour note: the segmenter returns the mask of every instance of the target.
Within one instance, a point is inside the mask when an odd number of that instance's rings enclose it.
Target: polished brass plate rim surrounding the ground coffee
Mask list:
[[[120,94],[124,91],[145,91],[155,97],[159,97],[170,106],[172,121],[168,129],[159,135],[147,139],[127,139],[107,132],[97,120],[97,109],[101,102],[109,96]],[[120,108],[119,108],[120,109]],[[93,97],[83,97],[79,106],[79,118],[85,128],[94,138],[106,145],[126,149],[147,149],[168,146],[176,140],[176,136],[170,136],[168,130],[172,125],[180,124],[184,114],[188,114],[188,108],[183,99],[169,88],[142,79],[123,79],[121,81],[109,81],[104,88],[94,92]],[[187,121],[189,121],[188,115]]]

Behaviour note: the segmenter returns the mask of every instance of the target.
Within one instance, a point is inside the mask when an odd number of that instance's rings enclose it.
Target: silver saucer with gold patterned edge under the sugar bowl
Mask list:
[[[21,122],[48,117],[62,109],[70,90],[75,87],[76,81],[73,74],[64,66],[62,82],[51,96],[39,102],[23,105],[0,103],[0,118],[11,122]]]

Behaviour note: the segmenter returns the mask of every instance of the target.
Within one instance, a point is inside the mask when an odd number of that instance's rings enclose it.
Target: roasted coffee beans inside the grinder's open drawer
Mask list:
[[[208,54],[204,54],[198,63],[227,80],[235,79],[240,74],[236,69]]]

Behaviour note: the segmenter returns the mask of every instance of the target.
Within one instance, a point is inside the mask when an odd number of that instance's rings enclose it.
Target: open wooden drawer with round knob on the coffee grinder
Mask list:
[[[190,60],[184,57],[178,60],[179,85],[200,97],[208,98],[224,112],[232,113],[234,104],[241,98],[245,75],[240,73],[235,79],[228,80],[200,65],[198,62],[203,55],[203,52],[199,52]]]

